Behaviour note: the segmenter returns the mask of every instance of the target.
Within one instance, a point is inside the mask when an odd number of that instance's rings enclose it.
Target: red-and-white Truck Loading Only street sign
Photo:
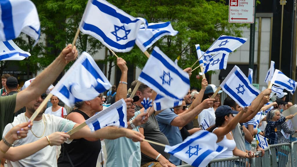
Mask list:
[[[229,23],[254,23],[254,0],[229,0]]]

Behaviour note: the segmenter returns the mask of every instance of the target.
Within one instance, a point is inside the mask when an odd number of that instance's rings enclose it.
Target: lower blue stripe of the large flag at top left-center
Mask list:
[[[114,42],[113,40],[111,40],[110,38],[108,38],[101,29],[99,29],[98,27],[96,27],[96,26],[94,26],[92,24],[87,24],[87,23],[83,22],[83,29],[85,29],[87,31],[92,31],[92,32],[96,33],[108,45],[113,46],[113,47],[118,48],[118,49],[126,49],[126,48],[133,47],[135,45],[135,40],[131,40],[131,41],[127,42],[124,45],[121,45],[121,44],[119,44],[117,42]]]

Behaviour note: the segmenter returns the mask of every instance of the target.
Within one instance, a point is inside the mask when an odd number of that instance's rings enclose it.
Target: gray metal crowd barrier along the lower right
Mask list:
[[[241,157],[215,159],[207,167],[297,167],[297,141],[270,145],[264,151],[263,157],[252,159]],[[177,167],[191,167],[191,165]]]

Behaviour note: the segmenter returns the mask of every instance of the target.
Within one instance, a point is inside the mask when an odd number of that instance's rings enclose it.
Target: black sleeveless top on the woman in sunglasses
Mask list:
[[[80,113],[86,120],[90,118],[80,110],[73,110],[71,113],[72,112]],[[71,167],[66,150],[74,166],[96,167],[98,155],[101,150],[100,140],[87,141],[84,138],[74,139],[70,144],[64,143],[64,147],[65,150],[63,146],[61,147],[61,154],[58,158],[58,167]]]

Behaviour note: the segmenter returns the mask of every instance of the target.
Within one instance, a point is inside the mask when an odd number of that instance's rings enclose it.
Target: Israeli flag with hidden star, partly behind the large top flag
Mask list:
[[[142,52],[145,52],[151,45],[165,35],[175,36],[178,31],[175,31],[170,21],[163,23],[149,23],[147,28],[144,25],[140,26],[136,37],[136,45]]]

